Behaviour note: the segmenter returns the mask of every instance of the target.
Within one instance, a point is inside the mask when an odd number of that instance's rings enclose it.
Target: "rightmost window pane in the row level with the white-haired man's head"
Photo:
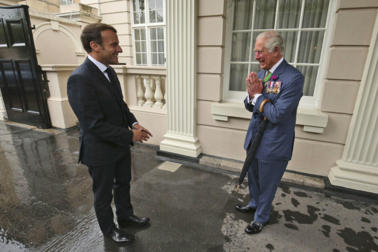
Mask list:
[[[297,62],[318,64],[322,52],[323,37],[324,31],[302,31]]]

